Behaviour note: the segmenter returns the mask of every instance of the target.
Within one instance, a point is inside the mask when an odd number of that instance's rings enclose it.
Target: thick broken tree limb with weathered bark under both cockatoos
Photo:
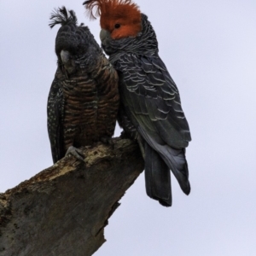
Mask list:
[[[143,171],[136,143],[84,148],[0,194],[1,256],[92,255],[119,199]]]

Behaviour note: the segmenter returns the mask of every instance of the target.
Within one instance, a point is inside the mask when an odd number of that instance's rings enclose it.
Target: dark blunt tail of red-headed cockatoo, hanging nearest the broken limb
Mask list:
[[[145,143],[145,183],[149,197],[162,206],[172,206],[170,168],[148,143]]]

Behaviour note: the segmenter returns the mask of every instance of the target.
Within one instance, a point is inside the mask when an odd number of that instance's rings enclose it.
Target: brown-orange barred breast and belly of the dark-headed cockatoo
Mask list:
[[[112,137],[119,108],[118,77],[106,58],[92,73],[76,73],[62,82],[65,98],[63,135],[65,151],[71,145],[91,145]]]

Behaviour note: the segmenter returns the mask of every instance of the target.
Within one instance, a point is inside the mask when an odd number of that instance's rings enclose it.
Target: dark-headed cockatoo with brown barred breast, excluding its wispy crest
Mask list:
[[[74,13],[73,13],[74,14]],[[58,67],[48,98],[54,162],[70,146],[111,138],[119,108],[118,75],[86,26],[68,22],[55,39]]]

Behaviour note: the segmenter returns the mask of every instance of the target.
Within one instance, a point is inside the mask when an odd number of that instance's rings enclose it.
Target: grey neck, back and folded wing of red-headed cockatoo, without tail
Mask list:
[[[153,125],[157,130],[155,126],[163,123],[158,121],[165,121],[172,134],[163,136],[166,143],[175,148],[187,147],[191,137],[177,85],[158,55],[156,35],[148,17],[142,18],[143,31],[137,38],[107,38],[102,47],[109,49],[109,61],[119,73],[122,104],[129,106],[128,111],[142,126]]]

